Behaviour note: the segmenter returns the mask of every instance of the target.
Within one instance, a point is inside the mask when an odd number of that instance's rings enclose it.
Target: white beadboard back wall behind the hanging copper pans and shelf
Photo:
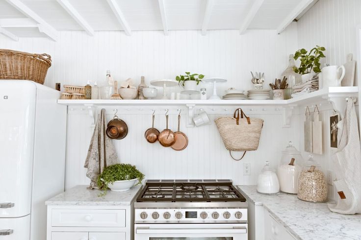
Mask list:
[[[131,36],[102,31],[94,37],[78,31],[59,33],[58,42],[37,38],[13,42],[0,36],[0,46],[52,55],[53,64],[45,83],[50,87],[56,82],[63,85],[85,85],[87,80],[101,82],[106,70],[111,70],[116,80],[131,77],[137,84],[141,75],[149,83],[159,78],[174,79],[177,74],[191,71],[206,77],[226,78],[228,82],[220,86],[219,95],[230,87],[249,90],[250,71],[265,72],[267,86],[286,68],[288,54],[297,49],[295,24],[280,35],[274,30],[248,30],[244,35],[239,35],[237,30],[214,30],[206,36],[202,36],[201,31],[170,31],[168,36],[164,36],[163,31],[134,31]],[[206,87],[211,94],[211,86]],[[180,89],[175,87],[170,91]],[[291,137],[294,130],[282,128],[281,111],[246,108],[246,113],[263,118],[265,124],[258,150],[248,152],[244,160],[237,162],[229,156],[213,123],[221,113],[232,114],[235,109],[225,108],[227,111],[205,109],[212,124],[199,128],[185,127],[186,109],[183,108],[181,131],[187,134],[189,145],[180,152],[146,142],[144,132],[151,126],[150,109],[134,113],[134,109],[119,108],[118,116],[129,126],[129,135],[114,141],[121,162],[135,164],[146,178],[223,178],[232,179],[235,184],[256,184],[264,162],[268,160],[276,167],[287,142],[296,141],[297,138]],[[113,110],[107,109],[108,120]],[[159,130],[165,128],[164,110],[165,107],[157,108],[155,126]],[[176,130],[177,109],[170,110],[170,127]],[[91,135],[87,111],[69,109],[66,188],[89,183],[83,165]],[[245,162],[252,164],[250,176],[243,176]]]

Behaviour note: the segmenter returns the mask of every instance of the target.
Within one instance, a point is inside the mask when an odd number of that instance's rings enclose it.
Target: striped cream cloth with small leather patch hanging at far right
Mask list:
[[[341,121],[338,151],[334,154],[337,204],[328,204],[332,212],[340,214],[361,213],[361,148],[355,105],[347,101],[345,117]]]

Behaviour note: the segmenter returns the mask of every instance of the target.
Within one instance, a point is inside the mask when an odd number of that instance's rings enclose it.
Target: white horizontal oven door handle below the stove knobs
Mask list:
[[[137,234],[240,234],[247,233],[246,227],[232,227],[232,228],[149,228],[149,227],[137,227]]]

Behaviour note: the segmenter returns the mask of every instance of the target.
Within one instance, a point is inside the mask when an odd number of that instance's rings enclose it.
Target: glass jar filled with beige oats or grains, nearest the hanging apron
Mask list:
[[[298,178],[298,198],[308,202],[326,202],[327,182],[322,169],[309,155]]]

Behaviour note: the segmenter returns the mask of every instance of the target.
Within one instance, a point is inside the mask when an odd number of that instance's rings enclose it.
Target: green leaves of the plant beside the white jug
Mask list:
[[[326,48],[320,46],[312,48],[309,53],[305,48],[297,50],[294,59],[300,58],[301,64],[299,68],[293,67],[293,71],[300,74],[311,73],[312,70],[315,73],[321,72],[320,58],[325,57],[323,54],[325,50]]]

